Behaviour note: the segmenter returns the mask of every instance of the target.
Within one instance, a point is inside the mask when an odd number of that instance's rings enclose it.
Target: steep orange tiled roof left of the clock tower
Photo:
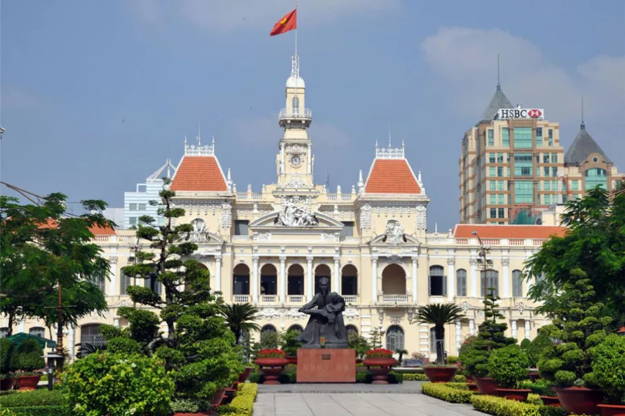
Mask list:
[[[176,170],[172,191],[225,192],[226,178],[215,156],[184,156]]]

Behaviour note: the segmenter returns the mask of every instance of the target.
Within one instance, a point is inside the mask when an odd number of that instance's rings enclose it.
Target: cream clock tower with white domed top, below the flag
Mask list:
[[[292,56],[291,74],[286,80],[286,107],[280,110],[279,125],[284,136],[277,154],[277,185],[282,189],[313,189],[313,142],[308,127],[313,113],[306,108],[306,84],[299,76],[299,56]]]

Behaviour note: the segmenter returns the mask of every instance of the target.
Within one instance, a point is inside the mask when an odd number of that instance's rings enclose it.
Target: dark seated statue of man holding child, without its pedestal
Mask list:
[[[304,332],[297,337],[302,344],[301,348],[321,348],[321,337],[325,339],[325,348],[348,348],[347,330],[343,320],[345,300],[336,292],[330,293],[329,284],[328,278],[321,278],[319,280],[321,291],[299,309],[299,312],[310,315]]]

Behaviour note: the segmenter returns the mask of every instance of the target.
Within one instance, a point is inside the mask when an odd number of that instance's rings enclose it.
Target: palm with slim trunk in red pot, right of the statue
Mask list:
[[[462,317],[464,317],[462,308],[453,303],[429,304],[419,306],[419,309],[417,309],[417,322],[434,325],[436,362],[435,364],[427,364],[423,367],[430,382],[450,382],[458,371],[457,365],[445,364],[443,342],[445,339],[445,325],[456,322]]]

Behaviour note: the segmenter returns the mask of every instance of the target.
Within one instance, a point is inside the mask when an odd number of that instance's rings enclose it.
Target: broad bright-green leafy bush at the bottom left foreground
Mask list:
[[[77,416],[159,416],[170,411],[174,382],[154,358],[104,351],[72,364],[63,391]]]

